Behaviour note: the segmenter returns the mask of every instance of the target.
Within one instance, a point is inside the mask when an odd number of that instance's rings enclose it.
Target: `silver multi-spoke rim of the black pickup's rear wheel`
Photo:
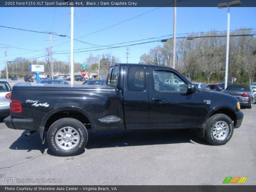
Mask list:
[[[73,127],[63,127],[55,135],[57,146],[63,150],[75,148],[80,140],[80,136]]]

